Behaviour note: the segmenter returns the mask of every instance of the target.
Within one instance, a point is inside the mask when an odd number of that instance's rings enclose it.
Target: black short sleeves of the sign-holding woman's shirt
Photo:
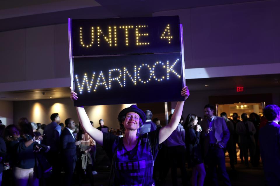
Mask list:
[[[149,142],[150,142],[150,146],[151,146],[151,150],[152,150],[154,160],[157,156],[158,150],[162,146],[162,144],[159,144],[159,131],[160,131],[160,128],[157,128],[157,130],[154,130],[152,132],[149,132],[149,133],[146,133],[146,134],[143,134],[143,135],[139,136],[139,138],[141,138],[141,137],[145,137],[146,135],[148,135],[148,139],[149,139]],[[112,149],[112,147],[113,147],[113,143],[115,142],[115,140],[122,140],[122,139],[120,137],[116,136],[116,135],[111,134],[111,133],[104,133],[103,132],[103,149],[107,153],[110,160],[112,160],[112,158],[113,158],[114,149]]]

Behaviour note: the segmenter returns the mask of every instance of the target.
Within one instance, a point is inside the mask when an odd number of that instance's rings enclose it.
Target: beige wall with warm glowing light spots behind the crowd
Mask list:
[[[98,127],[99,119],[104,119],[104,123],[109,128],[118,127],[118,113],[131,104],[124,105],[98,105],[87,106],[85,110],[89,119],[94,122],[94,127]],[[59,113],[61,122],[65,119],[73,118],[76,123],[79,122],[76,109],[69,98],[62,99],[41,99],[32,101],[14,101],[14,122],[15,124],[21,117],[27,117],[29,121],[41,124],[49,124],[50,115]]]

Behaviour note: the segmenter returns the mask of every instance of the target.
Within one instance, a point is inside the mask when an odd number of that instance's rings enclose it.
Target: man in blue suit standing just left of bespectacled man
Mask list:
[[[53,167],[52,176],[46,179],[48,185],[57,183],[60,175],[60,163],[58,158],[59,137],[61,134],[61,126],[58,125],[60,123],[60,117],[58,113],[53,113],[50,119],[52,122],[44,128],[44,138],[42,140],[42,144],[50,146],[50,151],[46,153],[46,158]]]

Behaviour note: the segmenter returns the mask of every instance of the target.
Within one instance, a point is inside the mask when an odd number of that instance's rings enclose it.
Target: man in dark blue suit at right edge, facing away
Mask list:
[[[280,108],[277,105],[267,105],[263,115],[268,123],[260,129],[260,155],[265,172],[266,185],[280,183]]]

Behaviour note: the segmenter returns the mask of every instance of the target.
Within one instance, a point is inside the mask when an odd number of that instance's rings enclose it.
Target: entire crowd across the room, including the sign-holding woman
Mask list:
[[[75,99],[73,94],[71,99]],[[218,185],[217,174],[221,175],[223,185],[231,185],[225,153],[228,152],[230,167],[234,170],[237,146],[241,164],[256,167],[261,155],[267,185],[280,181],[275,168],[280,165],[278,106],[265,107],[265,117],[260,118],[255,113],[248,117],[243,113],[239,120],[237,113],[233,113],[232,119],[225,112],[217,117],[213,105],[207,104],[203,119],[188,114],[184,122],[180,114],[182,103],[178,102],[178,105],[175,117],[169,115],[166,126],[153,118],[150,110],[143,112],[136,105],[120,112],[117,130],[109,130],[104,119],[100,119],[100,126],[94,128],[83,107],[77,107],[79,124],[71,118],[63,124],[59,114],[54,113],[48,125],[29,122],[27,118],[20,118],[17,125],[6,128],[0,125],[0,185],[57,185],[59,180],[63,180],[62,185],[72,185],[74,171],[79,185],[83,179],[94,185],[95,156],[99,153],[96,143],[103,146],[112,160],[115,185],[140,183],[144,178],[144,185],[161,185],[171,169],[172,185],[175,186],[178,185],[177,167],[181,170],[183,185],[190,182],[193,186],[202,186],[206,175],[210,185]],[[138,126],[133,128],[132,124]],[[191,180],[188,180],[186,162],[188,168],[192,168]],[[145,171],[133,172],[143,167]],[[64,171],[63,179],[61,171]],[[138,175],[139,180],[127,177],[127,174]]]

